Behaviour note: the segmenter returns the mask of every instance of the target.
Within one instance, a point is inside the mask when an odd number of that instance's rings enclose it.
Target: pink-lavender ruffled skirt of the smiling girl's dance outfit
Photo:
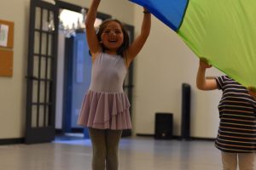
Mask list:
[[[79,114],[78,124],[98,129],[131,129],[130,102],[122,93],[89,90]]]

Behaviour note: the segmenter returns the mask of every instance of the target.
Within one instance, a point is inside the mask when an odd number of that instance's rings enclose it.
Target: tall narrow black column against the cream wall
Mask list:
[[[182,128],[181,138],[190,139],[190,85],[182,84]]]

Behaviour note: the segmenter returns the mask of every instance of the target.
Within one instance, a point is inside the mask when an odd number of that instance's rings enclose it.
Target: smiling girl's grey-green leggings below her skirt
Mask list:
[[[92,143],[92,170],[118,170],[118,146],[122,130],[89,128]],[[105,166],[106,164],[106,166]]]

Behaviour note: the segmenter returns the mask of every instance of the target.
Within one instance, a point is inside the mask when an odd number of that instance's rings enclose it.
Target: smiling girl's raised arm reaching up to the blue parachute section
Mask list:
[[[128,64],[131,63],[132,59],[134,59],[143,48],[143,45],[148,39],[150,28],[151,28],[151,14],[148,12],[146,8],[143,8],[143,24],[142,24],[141,32],[137,36],[137,38],[134,40],[134,42],[131,43],[131,46],[127,50]]]

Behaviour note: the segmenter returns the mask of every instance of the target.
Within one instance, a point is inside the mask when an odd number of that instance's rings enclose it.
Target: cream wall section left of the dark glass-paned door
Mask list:
[[[15,43],[13,77],[0,77],[0,139],[24,136],[28,13],[28,0],[1,0],[0,20],[15,22]]]

